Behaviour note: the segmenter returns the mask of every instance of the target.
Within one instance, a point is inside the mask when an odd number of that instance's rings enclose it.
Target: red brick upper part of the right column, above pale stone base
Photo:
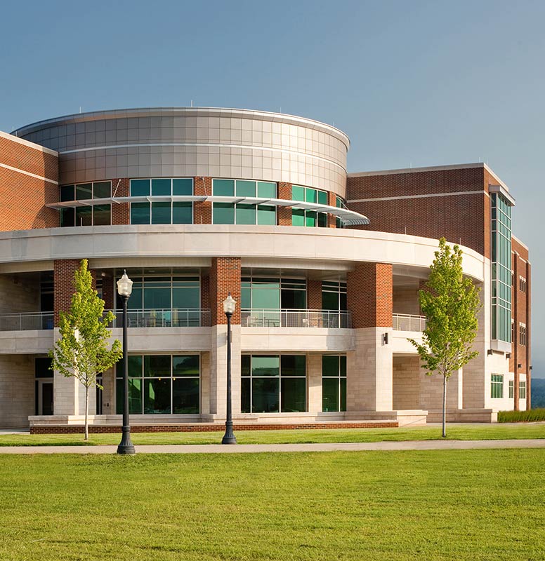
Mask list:
[[[346,280],[352,326],[392,327],[392,265],[360,262]]]

